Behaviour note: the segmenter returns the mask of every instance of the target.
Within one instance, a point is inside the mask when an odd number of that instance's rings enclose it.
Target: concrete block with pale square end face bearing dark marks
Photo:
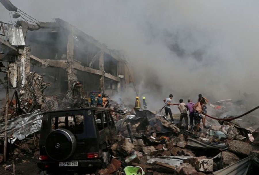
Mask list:
[[[206,156],[184,159],[183,162],[190,163],[197,171],[202,171],[202,172],[213,171],[213,160],[207,159]]]

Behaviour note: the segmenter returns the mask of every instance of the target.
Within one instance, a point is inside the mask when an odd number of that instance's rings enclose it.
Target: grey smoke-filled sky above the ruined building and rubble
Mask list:
[[[11,0],[39,21],[61,18],[108,48],[123,50],[150,107],[174,95],[197,101],[259,93],[259,1]],[[0,4],[0,21],[10,21]],[[14,19],[12,19],[14,21]],[[123,95],[134,103],[131,88]]]

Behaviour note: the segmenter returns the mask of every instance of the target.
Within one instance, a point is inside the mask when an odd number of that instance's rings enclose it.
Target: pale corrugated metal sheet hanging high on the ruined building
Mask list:
[[[24,37],[22,34],[22,27],[15,26],[12,24],[7,24],[8,27],[8,36],[9,36],[9,43],[12,46],[24,46]]]

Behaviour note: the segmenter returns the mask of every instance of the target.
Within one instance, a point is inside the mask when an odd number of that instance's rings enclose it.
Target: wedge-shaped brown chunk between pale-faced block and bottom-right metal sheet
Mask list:
[[[220,169],[225,168],[229,165],[232,165],[239,160],[240,160],[239,157],[237,157],[237,155],[235,155],[234,153],[231,153],[229,151],[223,151],[221,152],[221,155],[220,155],[220,163],[219,163]]]

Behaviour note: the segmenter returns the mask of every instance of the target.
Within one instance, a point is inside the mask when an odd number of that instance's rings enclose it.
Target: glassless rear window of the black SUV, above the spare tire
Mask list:
[[[81,134],[84,131],[84,116],[61,116],[52,118],[52,130],[68,129],[73,134]]]

